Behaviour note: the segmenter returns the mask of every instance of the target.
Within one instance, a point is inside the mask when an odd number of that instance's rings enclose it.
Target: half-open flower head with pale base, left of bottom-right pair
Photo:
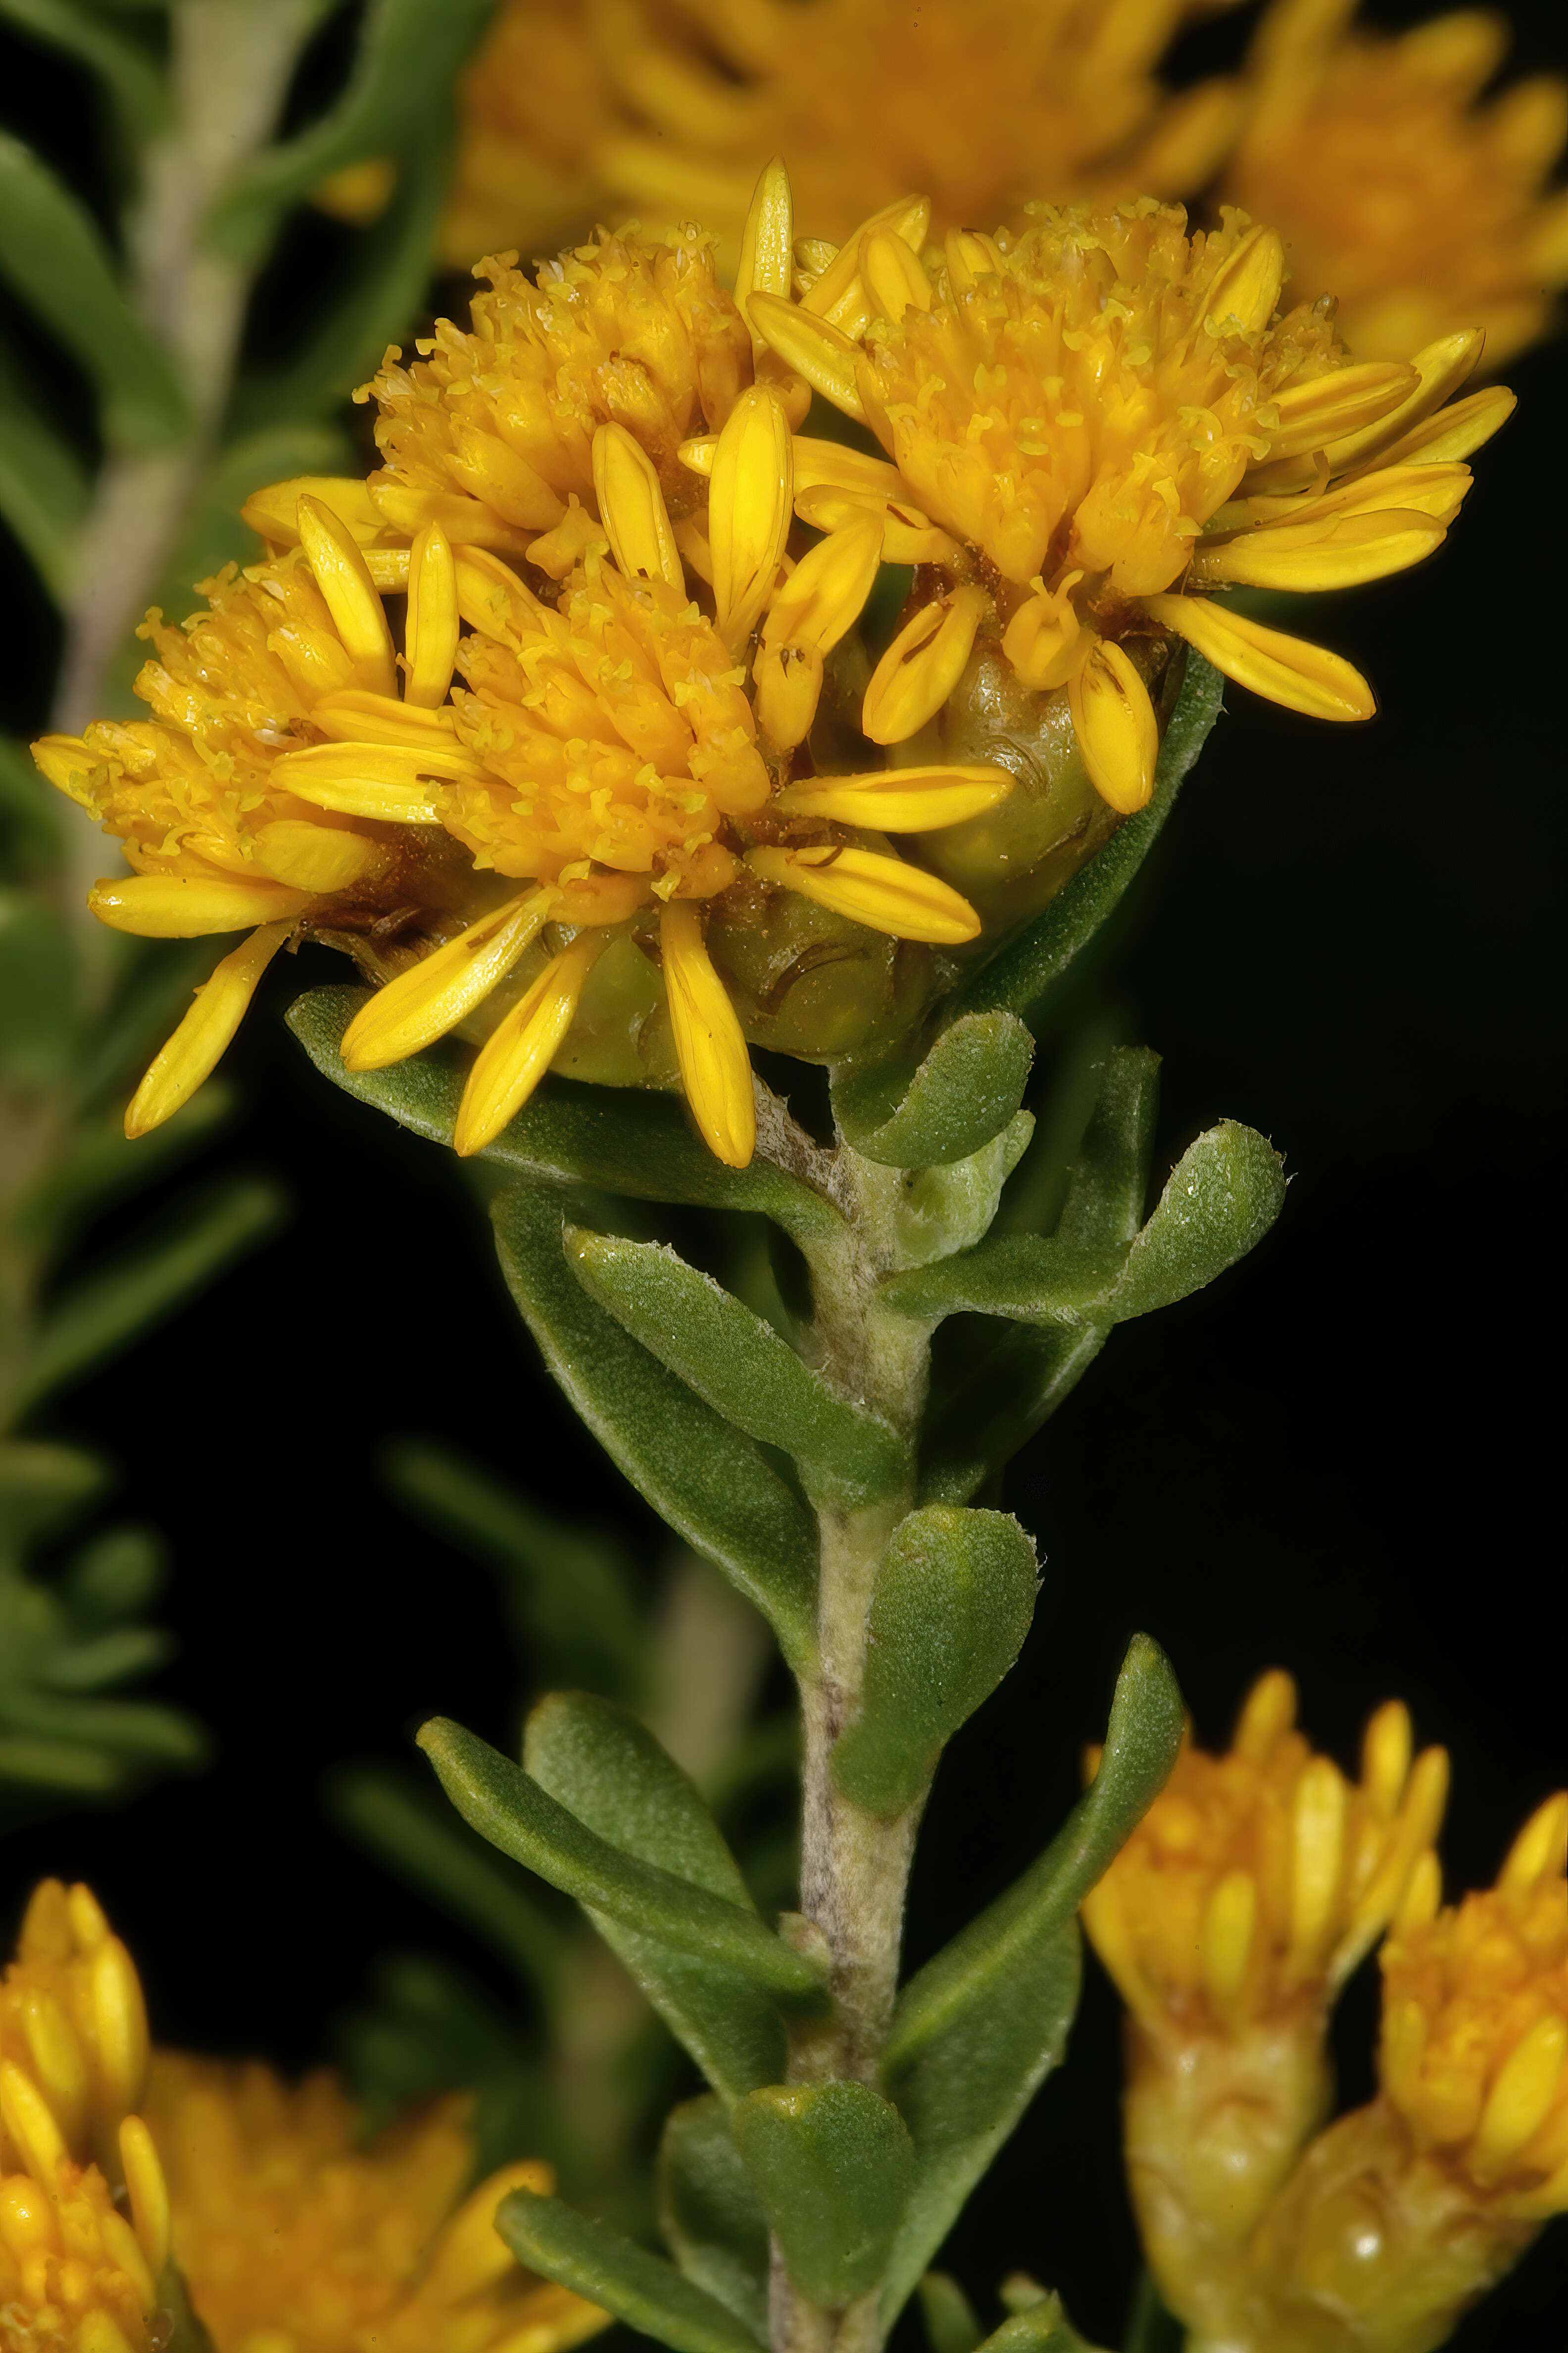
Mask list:
[[[1154,2278],[1201,2327],[1229,2308],[1253,2226],[1328,2113],[1328,2009],[1436,1835],[1441,1748],[1410,1760],[1399,1701],[1359,1781],[1295,1729],[1265,1675],[1225,1755],[1175,1772],[1084,1904],[1128,2005],[1126,2162]]]

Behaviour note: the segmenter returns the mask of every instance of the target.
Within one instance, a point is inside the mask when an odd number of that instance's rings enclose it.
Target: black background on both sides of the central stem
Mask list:
[[[1556,0],[1514,19],[1523,66],[1568,61]],[[68,78],[12,54],[31,82],[7,82],[7,113],[59,120]],[[301,231],[296,266],[331,261],[331,235]],[[1046,1591],[1020,1666],[938,1779],[912,1960],[1060,1819],[1138,1626],[1171,1649],[1213,1744],[1269,1664],[1295,1671],[1307,1729],[1342,1762],[1366,1713],[1406,1694],[1418,1737],[1453,1751],[1450,1889],[1490,1880],[1568,1767],[1568,348],[1509,381],[1519,416],[1476,459],[1436,560],[1302,624],[1368,671],[1385,715],[1326,729],[1232,692],[1124,929],[1131,1035],[1166,1056],[1166,1162],[1237,1115],[1286,1151],[1291,1195],[1239,1273],[1117,1332],[1009,1473]],[[5,588],[21,614],[14,562]],[[19,621],[12,645],[26,659],[7,718],[31,727],[49,633]],[[496,1595],[393,1513],[386,1435],[449,1440],[616,1522],[649,1560],[658,1537],[543,1381],[454,1169],[331,1094],[282,1031],[317,976],[336,976],[320,951],[284,960],[228,1064],[244,1111],[223,1158],[287,1186],[284,1238],[56,1419],[115,1457],[120,1508],[169,1539],[183,1652],[167,1689],[216,1727],[216,1765],[122,1814],[26,1831],[5,1859],[7,1904],[45,1871],[94,1882],[165,2040],[287,2066],[331,2047],[386,1951],[487,1967],[317,1807],[329,1765],[402,1753],[430,1711],[515,1732]],[[1359,1988],[1342,2035],[1356,2097],[1371,2021]],[[1105,2339],[1135,2261],[1114,2040],[1091,1967],[1065,2071],[950,2247],[976,2294],[1027,2266]],[[1559,2224],[1455,2344],[1556,2341],[1566,2289]]]

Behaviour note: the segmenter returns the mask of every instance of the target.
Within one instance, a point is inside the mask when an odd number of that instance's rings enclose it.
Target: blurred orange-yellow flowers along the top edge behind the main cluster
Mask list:
[[[1220,0],[1225,5],[1225,0]],[[698,212],[733,256],[769,153],[825,238],[931,188],[938,233],[1025,198],[1239,205],[1284,238],[1298,294],[1333,294],[1361,360],[1483,329],[1495,369],[1568,285],[1568,198],[1542,184],[1568,87],[1476,106],[1490,14],[1361,28],[1356,0],[1274,0],[1246,71],[1180,94],[1159,61],[1182,0],[503,0],[461,89],[442,247],[541,252],[602,212]],[[364,216],[388,172],[324,202]],[[1213,214],[1218,219],[1218,214]]]

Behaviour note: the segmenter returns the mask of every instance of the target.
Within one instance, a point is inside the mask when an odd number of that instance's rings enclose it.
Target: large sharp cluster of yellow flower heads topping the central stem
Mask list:
[[[1509,409],[1443,407],[1479,336],[1354,365],[1324,306],[1279,308],[1279,238],[1239,214],[929,226],[910,198],[797,240],[769,165],[733,292],[696,228],[487,261],[473,325],[367,386],[369,480],[252,499],[266,560],[143,628],[153,715],[38,746],[134,868],[106,922],[254,927],[132,1134],[306,934],[381,984],[350,1068],[480,1047],[461,1153],[555,1064],[679,1082],[743,1167],[748,1042],[886,1052],[1150,798],[1185,645],[1298,711],[1371,711],[1349,664],[1215,591],[1429,553]],[[802,433],[811,391],[884,454]],[[891,567],[912,588],[872,659]]]

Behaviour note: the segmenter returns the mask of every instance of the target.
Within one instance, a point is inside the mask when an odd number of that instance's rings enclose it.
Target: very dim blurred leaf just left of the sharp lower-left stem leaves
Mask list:
[[[559,1927],[433,1788],[381,1765],[353,1765],[327,1784],[327,1809],[341,1831],[475,1929],[524,1981],[545,1991],[559,1986],[567,1965]]]

